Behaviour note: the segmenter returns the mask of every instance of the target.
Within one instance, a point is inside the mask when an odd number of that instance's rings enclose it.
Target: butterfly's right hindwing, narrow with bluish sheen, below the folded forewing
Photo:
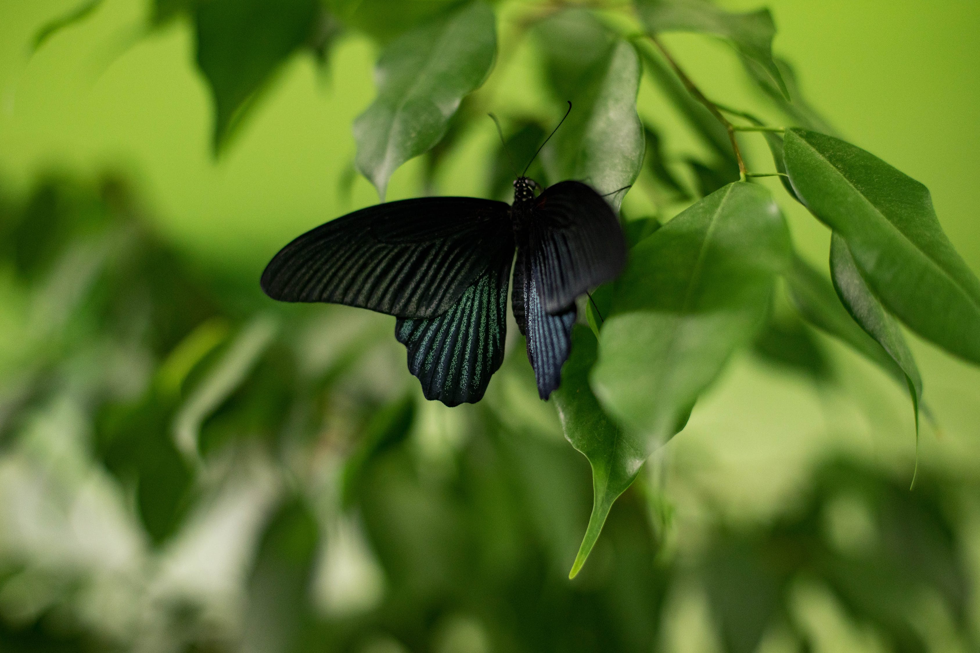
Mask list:
[[[514,316],[527,338],[527,357],[534,368],[538,395],[547,399],[562,383],[562,366],[571,351],[571,328],[575,324],[576,308],[572,302],[558,314],[549,313],[541,300],[536,282],[539,275],[534,267],[534,261],[518,250]]]

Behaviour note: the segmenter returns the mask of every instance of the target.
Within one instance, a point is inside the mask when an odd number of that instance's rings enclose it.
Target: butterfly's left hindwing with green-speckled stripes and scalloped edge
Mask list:
[[[399,319],[395,338],[427,399],[475,403],[504,360],[507,287],[514,247],[505,248],[460,299],[438,317]]]

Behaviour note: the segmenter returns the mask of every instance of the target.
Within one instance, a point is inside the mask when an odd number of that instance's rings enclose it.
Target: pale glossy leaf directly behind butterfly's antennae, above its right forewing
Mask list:
[[[613,44],[579,80],[571,113],[543,155],[553,181],[583,181],[608,195],[614,210],[643,166],[643,124],[636,114],[642,71],[632,45]]]

